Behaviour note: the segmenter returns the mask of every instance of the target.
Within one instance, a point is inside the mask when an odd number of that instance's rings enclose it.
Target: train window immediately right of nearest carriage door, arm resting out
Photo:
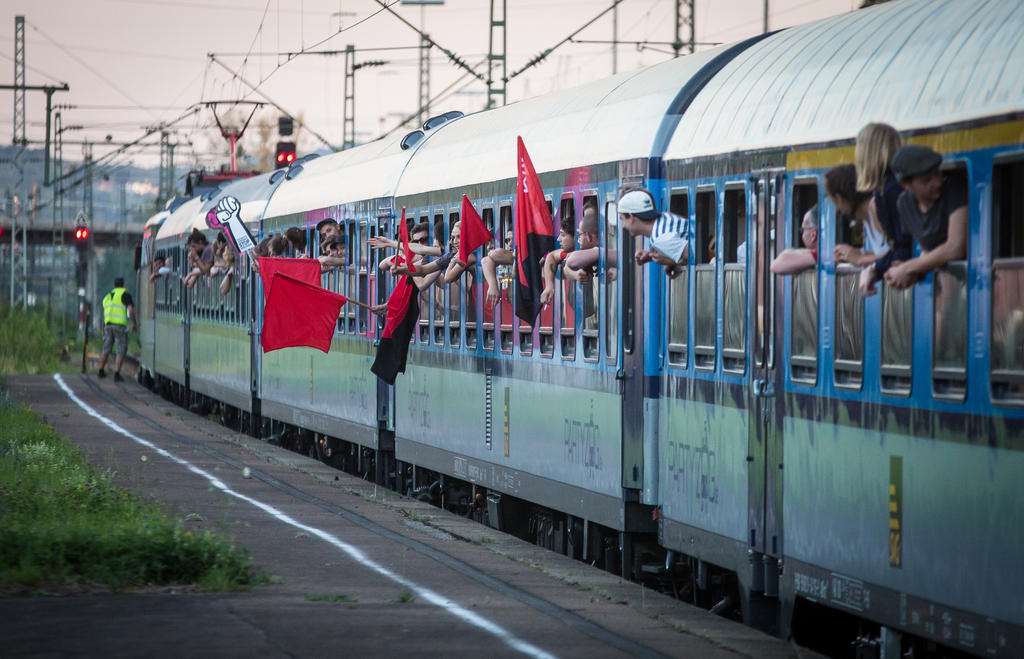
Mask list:
[[[811,213],[815,226],[820,224],[817,179],[797,181],[793,186],[792,240],[794,247],[808,248],[802,224]],[[790,277],[792,310],[790,314],[790,376],[794,382],[813,385],[818,376],[818,270],[810,268]]]

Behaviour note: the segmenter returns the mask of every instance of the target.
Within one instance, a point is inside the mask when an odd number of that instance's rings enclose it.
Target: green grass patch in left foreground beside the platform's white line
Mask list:
[[[35,413],[0,395],[0,586],[266,582],[244,548],[184,530],[114,485]]]

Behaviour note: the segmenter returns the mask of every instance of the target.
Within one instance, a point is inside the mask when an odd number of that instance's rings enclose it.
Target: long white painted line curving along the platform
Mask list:
[[[406,586],[407,588],[409,588],[410,590],[412,590],[413,592],[415,592],[417,596],[423,598],[424,600],[426,600],[427,602],[429,602],[430,604],[432,604],[432,605],[434,605],[436,607],[444,609],[445,611],[447,611],[449,613],[451,613],[455,617],[459,618],[460,620],[463,620],[464,622],[468,622],[469,624],[473,625],[474,627],[478,627],[478,628],[483,629],[484,631],[486,631],[486,632],[488,632],[490,634],[494,634],[494,635],[498,636],[499,639],[501,639],[503,642],[505,642],[509,647],[513,648],[514,650],[517,650],[517,651],[519,651],[519,652],[521,652],[521,653],[523,653],[525,655],[529,655],[530,657],[538,657],[538,658],[544,658],[544,659],[549,659],[549,658],[550,659],[554,659],[554,655],[552,655],[552,654],[550,654],[548,652],[545,652],[544,650],[541,650],[537,646],[528,644],[525,641],[517,639],[516,636],[514,636],[511,633],[509,633],[508,631],[506,631],[503,627],[501,627],[500,625],[492,622],[490,620],[487,620],[483,616],[480,616],[480,615],[478,615],[476,613],[473,613],[472,611],[467,610],[462,605],[460,605],[460,604],[458,604],[456,602],[453,602],[452,600],[449,600],[444,596],[442,596],[442,595],[440,595],[438,592],[434,592],[430,588],[427,588],[425,586],[419,585],[418,583],[416,583],[414,581],[411,581],[410,579],[407,579],[403,576],[399,576],[399,575],[395,574],[394,572],[392,572],[391,570],[388,570],[387,568],[385,568],[381,564],[377,563],[373,559],[370,559],[369,557],[367,557],[367,555],[362,552],[362,550],[356,547],[355,545],[349,544],[348,542],[345,542],[344,540],[341,540],[341,539],[335,537],[334,535],[331,535],[327,531],[322,531],[321,529],[314,528],[312,526],[307,526],[307,525],[303,524],[303,523],[301,523],[301,522],[299,522],[297,520],[294,520],[290,516],[286,515],[285,513],[282,513],[281,511],[279,511],[278,509],[273,508],[272,506],[269,506],[269,504],[264,503],[262,501],[254,499],[254,498],[252,498],[250,496],[246,496],[245,494],[242,494],[240,492],[236,492],[231,488],[227,487],[227,485],[225,485],[220,479],[218,479],[215,476],[213,476],[213,475],[211,475],[211,474],[203,471],[202,469],[196,467],[195,465],[193,465],[188,460],[182,459],[182,458],[178,457],[177,455],[174,455],[173,453],[171,453],[171,452],[169,452],[169,451],[167,451],[167,450],[165,450],[163,448],[160,448],[159,446],[157,446],[153,442],[146,441],[146,440],[142,439],[141,437],[138,437],[136,435],[133,435],[133,434],[129,433],[127,430],[125,430],[124,428],[122,428],[121,426],[119,426],[117,423],[111,421],[106,416],[103,416],[102,414],[100,414],[99,412],[97,412],[95,409],[93,409],[91,406],[89,406],[87,403],[85,403],[85,401],[83,401],[81,398],[79,398],[75,394],[75,392],[72,391],[71,387],[69,387],[68,384],[65,383],[63,379],[60,377],[59,374],[53,374],[53,380],[56,381],[57,385],[59,385],[60,388],[63,389],[65,393],[68,394],[68,397],[71,398],[73,401],[75,401],[75,404],[78,405],[79,407],[81,407],[82,410],[85,413],[89,414],[90,416],[92,416],[93,419],[95,419],[99,423],[103,424],[104,426],[106,426],[111,430],[113,430],[115,432],[118,432],[118,433],[121,433],[122,435],[124,435],[128,439],[130,439],[130,440],[132,440],[132,441],[134,441],[134,442],[136,442],[138,444],[141,444],[142,446],[145,446],[146,448],[151,448],[154,451],[156,451],[157,453],[159,453],[159,454],[161,454],[161,455],[163,455],[165,457],[168,457],[168,458],[174,460],[175,463],[181,465],[182,467],[184,467],[188,471],[193,472],[194,474],[198,474],[199,476],[202,476],[206,480],[210,481],[211,485],[213,485],[217,489],[221,490],[225,494],[229,494],[229,495],[231,495],[231,496],[233,496],[233,497],[236,497],[238,499],[241,499],[241,500],[246,501],[248,503],[252,503],[256,508],[260,509],[261,511],[263,511],[265,513],[267,513],[271,517],[273,517],[273,518],[275,518],[275,519],[284,522],[285,524],[289,524],[291,526],[294,526],[295,528],[300,529],[302,531],[305,531],[306,533],[309,533],[310,535],[315,535],[316,537],[321,538],[322,540],[328,542],[329,544],[332,544],[332,545],[336,546],[337,548],[339,548],[342,552],[344,552],[345,554],[347,554],[349,556],[349,558],[351,558],[356,563],[361,564],[364,567],[367,567],[367,568],[373,570],[374,572],[380,574],[381,576],[384,576],[384,577],[387,577],[388,579],[391,579],[392,581],[394,581],[395,583],[398,583],[399,585]]]

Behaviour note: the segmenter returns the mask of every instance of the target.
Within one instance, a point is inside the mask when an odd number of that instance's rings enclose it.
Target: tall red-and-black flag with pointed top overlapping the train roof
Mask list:
[[[519,276],[516,277],[515,287],[515,314],[534,324],[543,306],[541,292],[544,291],[544,273],[541,257],[555,248],[555,235],[541,179],[537,176],[522,137],[516,139],[515,251]]]

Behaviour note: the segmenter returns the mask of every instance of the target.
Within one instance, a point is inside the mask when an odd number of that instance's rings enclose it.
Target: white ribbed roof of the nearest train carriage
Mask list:
[[[1024,3],[904,0],[781,31],[693,99],[666,159],[848,140],[1024,108]]]

